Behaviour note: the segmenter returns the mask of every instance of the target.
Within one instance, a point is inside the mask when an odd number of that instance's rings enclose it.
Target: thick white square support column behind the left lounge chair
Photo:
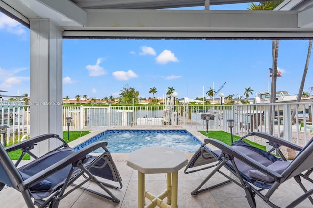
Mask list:
[[[49,19],[30,19],[31,137],[62,136],[62,30]],[[36,147],[42,155],[58,144]]]

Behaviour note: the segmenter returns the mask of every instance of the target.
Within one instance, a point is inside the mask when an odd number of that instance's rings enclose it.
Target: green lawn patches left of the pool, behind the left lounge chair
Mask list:
[[[67,141],[67,131],[63,131],[62,138],[68,143],[68,142],[74,141],[75,139],[78,139],[79,137],[85,136],[89,133],[90,131],[69,131],[69,141]],[[9,144],[9,146],[10,145],[12,145],[12,142]],[[12,160],[17,160],[21,154],[22,154],[22,150],[9,152],[9,156]],[[23,160],[30,160],[29,154],[24,155]]]

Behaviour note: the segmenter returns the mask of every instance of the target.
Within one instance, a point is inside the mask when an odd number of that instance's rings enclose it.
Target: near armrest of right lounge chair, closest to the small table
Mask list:
[[[233,156],[234,158],[237,158],[239,160],[241,160],[242,162],[246,163],[247,165],[251,166],[252,168],[254,168],[255,170],[259,170],[260,172],[263,172],[267,175],[272,176],[275,180],[280,180],[283,176],[278,174],[277,172],[268,169],[268,167],[262,165],[261,163],[257,162],[256,160],[246,156],[245,154],[243,154],[240,151],[235,150],[234,148],[232,148],[231,146],[216,140],[216,139],[205,139],[204,142],[206,144],[212,144],[213,146],[219,148],[220,150],[222,150],[222,153],[228,154]]]

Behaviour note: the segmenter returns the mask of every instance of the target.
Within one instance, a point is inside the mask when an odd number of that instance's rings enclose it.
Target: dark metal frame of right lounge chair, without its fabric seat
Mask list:
[[[282,154],[282,151],[279,149],[281,146],[285,146],[288,148],[291,148],[295,151],[300,151],[297,157],[290,163],[290,165],[284,170],[281,174],[270,170],[267,166],[262,165],[256,160],[253,160],[252,158],[248,157],[244,153],[234,149],[231,146],[228,146],[224,144],[223,142],[220,142],[216,139],[205,139],[205,143],[200,147],[200,149],[193,155],[193,157],[190,159],[189,164],[186,166],[186,169],[184,172],[186,174],[208,169],[215,167],[214,170],[201,182],[201,184],[194,189],[191,192],[191,195],[196,195],[198,193],[201,193],[203,191],[216,188],[218,186],[224,185],[229,182],[234,182],[238,186],[244,189],[246,194],[246,199],[250,205],[251,208],[256,207],[255,202],[255,195],[258,195],[261,199],[263,199],[268,205],[270,205],[273,208],[279,208],[277,205],[274,204],[274,202],[270,201],[270,197],[273,195],[273,193],[278,189],[278,187],[287,181],[290,178],[294,178],[295,181],[299,184],[301,189],[304,191],[304,194],[292,201],[289,205],[286,206],[286,208],[293,208],[300,204],[305,199],[309,199],[311,204],[313,205],[313,199],[311,195],[313,194],[313,188],[310,186],[311,189],[306,189],[304,184],[301,182],[301,178],[305,179],[313,184],[313,180],[309,178],[310,174],[313,172],[313,138],[308,142],[308,144],[302,148],[298,145],[294,145],[290,142],[284,141],[278,137],[271,136],[265,133],[261,132],[251,132],[247,134],[246,136],[240,138],[240,140],[243,140],[244,138],[248,136],[258,136],[261,138],[264,138],[268,140],[268,144],[272,146],[272,148],[268,151],[269,153],[276,150],[277,154],[281,157],[282,161],[287,161],[284,155]],[[218,148],[217,151],[212,151],[211,149],[207,148],[207,144],[211,144]],[[218,153],[220,152],[220,153]],[[197,162],[197,159],[200,158],[200,162]],[[205,160],[207,160],[207,163],[205,164]],[[253,183],[253,180],[248,178],[246,175],[243,175],[239,168],[237,167],[236,160],[240,160],[241,162],[245,163],[246,165],[252,167],[255,170],[259,170],[260,172],[273,177],[274,182],[271,184],[268,184],[269,187],[267,188],[260,188],[255,186]],[[214,163],[211,165],[211,163]],[[203,165],[207,165],[204,166]],[[190,168],[195,168],[197,166],[202,166],[201,168],[192,170]],[[235,178],[231,177],[229,174],[225,174],[220,169],[222,167],[225,167],[227,170],[229,170]],[[219,172],[224,177],[226,177],[228,180],[215,184],[211,187],[201,189],[202,186],[216,173]],[[236,180],[237,178],[237,180]],[[252,183],[251,183],[252,182]],[[261,193],[262,191],[268,190],[265,194]]]

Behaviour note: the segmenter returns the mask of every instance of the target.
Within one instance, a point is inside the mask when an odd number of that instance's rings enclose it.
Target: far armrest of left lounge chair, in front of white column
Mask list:
[[[59,135],[54,134],[54,133],[47,133],[47,134],[43,134],[43,135],[39,135],[39,136],[30,138],[30,139],[27,139],[27,140],[22,141],[22,142],[20,142],[18,144],[11,145],[11,146],[5,148],[5,150],[7,152],[10,152],[10,151],[15,151],[15,150],[18,150],[18,149],[21,149],[21,148],[34,146],[36,143],[44,141],[44,140],[47,140],[47,139],[50,139],[50,138],[58,139],[61,142],[63,142],[65,145],[67,145],[67,142],[64,141],[62,138],[60,138]]]

